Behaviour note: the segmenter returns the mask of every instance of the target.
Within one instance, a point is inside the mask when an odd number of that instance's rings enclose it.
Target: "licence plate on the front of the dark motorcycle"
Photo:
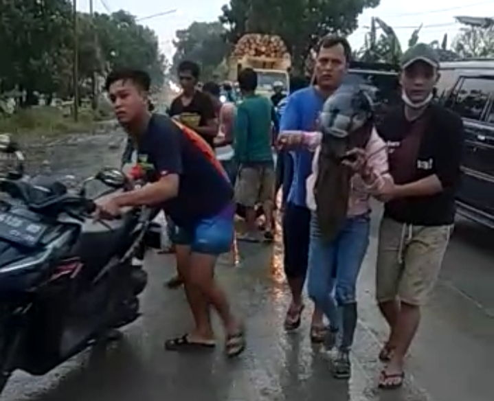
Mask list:
[[[35,247],[43,237],[47,227],[24,216],[0,212],[0,238],[24,245]]]

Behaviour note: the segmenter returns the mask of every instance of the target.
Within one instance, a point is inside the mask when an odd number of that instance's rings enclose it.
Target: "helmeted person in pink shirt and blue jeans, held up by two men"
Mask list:
[[[337,112],[338,113],[338,112]],[[331,115],[330,113],[328,115]],[[331,115],[330,118],[334,117]],[[330,211],[335,208],[338,202],[332,204],[322,203],[319,194],[317,204],[315,191],[327,191],[330,197],[337,199],[344,191],[343,187],[330,187],[341,181],[328,181],[328,184],[317,186],[317,178],[321,170],[319,165],[319,153],[323,134],[319,132],[283,132],[280,133],[278,141],[280,146],[292,148],[293,146],[303,146],[315,152],[313,157],[312,174],[306,181],[306,203],[308,209],[312,211],[311,238],[308,255],[308,295],[315,305],[324,311],[329,323],[329,333],[322,326],[320,335],[322,337],[330,334],[330,342],[335,345],[337,333],[341,332],[338,344],[338,353],[333,360],[333,375],[336,378],[350,377],[349,352],[353,342],[355,326],[357,324],[357,301],[356,283],[363,257],[366,255],[370,236],[370,196],[379,196],[383,187],[392,183],[388,174],[388,153],[384,141],[379,137],[372,126],[372,119],[369,119],[359,129],[366,130],[368,139],[362,148],[353,148],[346,152],[345,156],[338,162],[330,161],[331,172],[341,168],[350,168],[350,183],[346,215],[336,218],[337,227],[330,235],[330,239],[324,231],[327,225],[320,224],[319,213],[326,208]],[[338,131],[338,130],[336,130]],[[340,132],[336,132],[335,136]],[[324,135],[330,135],[324,133]],[[337,143],[338,139],[334,143]],[[351,157],[349,157],[351,155]],[[334,164],[331,164],[334,163]],[[325,167],[328,174],[327,166]],[[330,173],[332,174],[332,173]],[[346,175],[348,176],[348,175]],[[334,195],[333,195],[334,194]],[[341,200],[341,198],[339,198]],[[341,203],[340,203],[341,205]],[[336,209],[336,208],[335,208]],[[329,213],[331,214],[331,213]],[[334,217],[334,216],[333,216]],[[329,219],[331,222],[332,220]],[[331,226],[330,226],[331,227]],[[331,231],[331,230],[330,230]],[[327,232],[327,230],[326,230]],[[334,295],[333,295],[334,294]],[[314,328],[313,328],[314,330]],[[314,335],[314,333],[312,333]]]

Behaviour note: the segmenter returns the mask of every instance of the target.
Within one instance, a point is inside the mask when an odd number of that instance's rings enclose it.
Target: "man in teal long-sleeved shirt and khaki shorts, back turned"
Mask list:
[[[238,164],[235,198],[245,207],[247,226],[238,240],[260,242],[256,205],[261,203],[266,218],[264,238],[271,241],[275,184],[271,122],[277,121],[276,113],[269,99],[256,95],[258,77],[254,69],[240,71],[238,84],[243,101],[237,107],[234,124],[234,152]]]

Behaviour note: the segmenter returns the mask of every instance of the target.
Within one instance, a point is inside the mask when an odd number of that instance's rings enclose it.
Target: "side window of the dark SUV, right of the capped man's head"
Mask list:
[[[464,118],[479,120],[493,93],[494,77],[463,78],[451,94],[451,108]]]

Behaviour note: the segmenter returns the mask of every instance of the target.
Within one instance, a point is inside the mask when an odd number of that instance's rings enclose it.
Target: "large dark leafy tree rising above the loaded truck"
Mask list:
[[[326,34],[348,35],[357,17],[379,0],[230,0],[220,21],[235,43],[245,33],[280,35],[291,51],[293,67],[302,71],[311,49]]]

